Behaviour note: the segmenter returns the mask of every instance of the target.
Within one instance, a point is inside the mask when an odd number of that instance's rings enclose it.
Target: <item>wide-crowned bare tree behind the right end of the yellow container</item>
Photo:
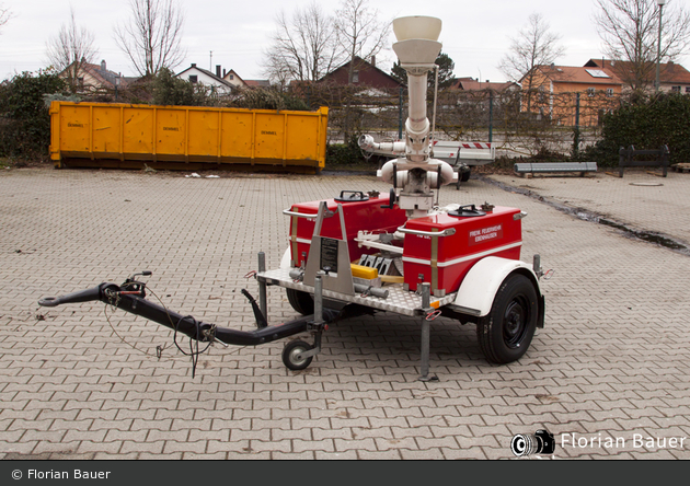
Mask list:
[[[285,85],[291,80],[317,81],[343,59],[333,36],[333,20],[314,1],[296,9],[291,20],[281,11],[266,58],[265,72]]]

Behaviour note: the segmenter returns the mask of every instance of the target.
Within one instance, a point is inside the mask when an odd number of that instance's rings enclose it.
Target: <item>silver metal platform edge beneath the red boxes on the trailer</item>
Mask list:
[[[314,293],[314,288],[290,278],[289,269],[266,270],[256,274],[260,281],[267,285],[280,286],[288,289],[295,289],[302,292]],[[379,298],[373,296],[363,297],[361,294],[347,296],[341,292],[323,290],[323,297],[327,299],[340,300],[342,302],[350,302],[368,308],[378,309],[380,311],[394,312],[403,315],[423,315],[425,310],[422,306],[422,296],[403,289],[402,284],[392,284],[382,287],[389,291],[388,298]],[[452,303],[456,300],[457,292],[448,293],[442,298],[432,297],[430,306],[438,309],[440,306]]]

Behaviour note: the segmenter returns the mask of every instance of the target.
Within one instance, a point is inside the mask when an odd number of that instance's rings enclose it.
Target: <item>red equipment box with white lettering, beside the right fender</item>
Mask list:
[[[418,284],[430,282],[432,292],[442,297],[457,291],[470,268],[485,256],[520,258],[519,209],[495,207],[491,211],[461,210],[459,213],[468,216],[450,212],[407,221],[407,230],[425,233],[405,235],[403,268],[410,290],[416,290]],[[430,235],[444,230],[455,230],[455,233]]]

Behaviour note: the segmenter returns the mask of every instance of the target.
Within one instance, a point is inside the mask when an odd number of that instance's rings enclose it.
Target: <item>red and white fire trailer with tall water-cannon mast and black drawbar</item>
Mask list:
[[[297,202],[283,211],[289,224],[280,266],[267,269],[260,252],[258,302],[242,290],[256,329],[204,323],[148,300],[141,277],[150,271],[135,274],[122,285],[101,284],[38,303],[105,302],[197,344],[257,346],[298,334],[311,336],[290,340],[283,350],[283,362],[295,371],[311,364],[330,325],[377,312],[419,322],[422,381],[436,379],[429,373],[429,335],[430,322],[440,315],[475,324],[487,361],[520,359],[536,329],[544,326],[545,309],[540,256],[531,263],[520,259],[521,222],[527,215],[488,202],[446,207],[436,202],[440,188],[458,181],[448,162],[430,157],[428,142],[427,76],[440,51],[440,26],[439,19],[428,16],[393,21],[398,37],[393,49],[409,77],[410,116],[404,155],[387,162],[378,173],[392,187],[388,194],[342,190],[333,198]],[[299,317],[268,324],[267,292],[275,287],[286,292]]]

